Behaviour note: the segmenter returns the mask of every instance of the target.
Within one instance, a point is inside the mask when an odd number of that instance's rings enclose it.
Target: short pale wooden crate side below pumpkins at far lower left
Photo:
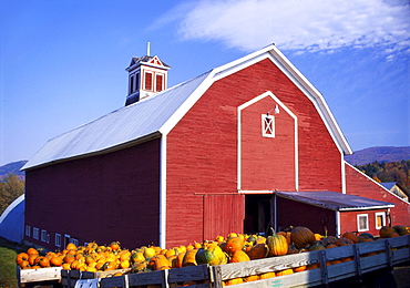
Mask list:
[[[61,281],[61,267],[20,269],[17,268],[19,287],[31,285],[53,285]]]

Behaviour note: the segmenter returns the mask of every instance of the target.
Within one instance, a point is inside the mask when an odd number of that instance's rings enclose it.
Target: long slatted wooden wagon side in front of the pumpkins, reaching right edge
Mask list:
[[[375,254],[375,255],[371,255]],[[352,260],[328,266],[327,263],[351,257]],[[175,268],[163,271],[130,274],[101,279],[100,287],[113,288],[157,285],[162,288],[175,287],[188,280],[208,281],[189,286],[191,288],[219,288],[223,280],[244,278],[268,271],[280,271],[309,264],[320,264],[320,268],[295,272],[293,275],[250,281],[229,287],[312,287],[362,275],[410,260],[410,236],[361,243],[331,249],[270,257],[246,263],[226,265]]]

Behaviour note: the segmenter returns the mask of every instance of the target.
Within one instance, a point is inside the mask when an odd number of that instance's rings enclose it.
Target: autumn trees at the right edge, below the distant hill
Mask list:
[[[356,165],[355,167],[379,183],[397,182],[397,185],[407,195],[410,195],[410,160],[397,162],[375,161],[373,163]]]

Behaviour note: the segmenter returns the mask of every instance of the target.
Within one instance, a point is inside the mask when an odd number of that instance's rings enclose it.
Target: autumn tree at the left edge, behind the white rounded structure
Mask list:
[[[16,174],[7,175],[0,183],[0,215],[20,195],[24,193],[24,181]]]

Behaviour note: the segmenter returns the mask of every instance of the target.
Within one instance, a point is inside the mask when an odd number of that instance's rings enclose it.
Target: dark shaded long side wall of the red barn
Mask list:
[[[160,140],[25,172],[25,224],[84,241],[158,244]],[[64,243],[62,243],[64,244]]]

